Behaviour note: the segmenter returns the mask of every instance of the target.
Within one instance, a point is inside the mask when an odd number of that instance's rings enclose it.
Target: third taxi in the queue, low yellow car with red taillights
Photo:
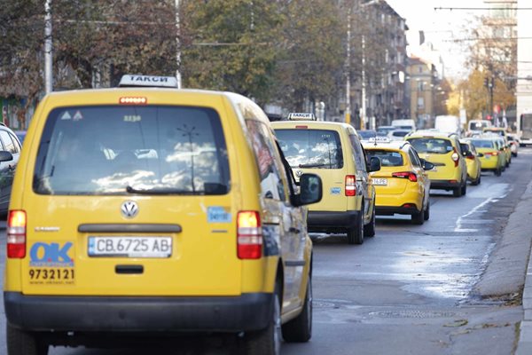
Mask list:
[[[377,215],[411,215],[412,223],[423,225],[430,217],[430,178],[426,170],[434,166],[420,159],[405,141],[373,138],[364,142],[369,157],[380,160],[380,170],[372,172]]]

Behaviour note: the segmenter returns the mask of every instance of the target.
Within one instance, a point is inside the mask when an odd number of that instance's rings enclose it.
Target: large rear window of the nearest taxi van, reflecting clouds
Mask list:
[[[33,188],[59,195],[224,194],[229,182],[213,109],[75,106],[48,116]]]

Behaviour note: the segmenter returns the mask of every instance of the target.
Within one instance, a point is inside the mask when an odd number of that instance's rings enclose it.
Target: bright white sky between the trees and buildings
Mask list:
[[[466,44],[459,41],[468,37],[466,29],[473,28],[475,18],[482,15],[486,5],[482,0],[387,0],[395,12],[406,19],[410,28],[407,38],[410,43],[409,53],[416,54],[419,50],[419,31],[425,32],[426,42],[434,44],[439,50],[444,62],[444,75],[456,79],[463,79],[468,73],[465,67],[467,59]],[[453,8],[453,10],[434,8]],[[465,10],[474,8],[476,10]]]

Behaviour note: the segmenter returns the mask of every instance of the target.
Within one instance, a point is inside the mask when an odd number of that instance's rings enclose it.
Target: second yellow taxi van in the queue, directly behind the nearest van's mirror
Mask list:
[[[347,123],[317,122],[312,116],[294,113],[290,121],[271,126],[296,176],[314,173],[321,177],[323,198],[309,206],[309,232],[347,233],[349,244],[362,244],[364,235],[375,235],[375,189],[370,164],[356,130]]]

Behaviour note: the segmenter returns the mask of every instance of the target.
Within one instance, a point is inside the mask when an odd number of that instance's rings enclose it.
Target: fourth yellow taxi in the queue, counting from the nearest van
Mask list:
[[[460,197],[467,192],[467,166],[456,133],[417,130],[405,137],[419,157],[434,164],[428,170],[432,189],[452,191]]]

